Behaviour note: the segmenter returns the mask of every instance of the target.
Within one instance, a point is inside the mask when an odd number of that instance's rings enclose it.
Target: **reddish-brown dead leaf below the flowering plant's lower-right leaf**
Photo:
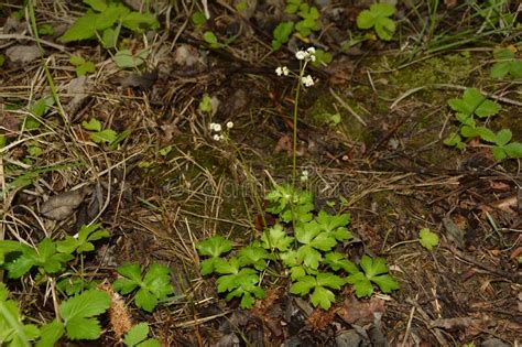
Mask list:
[[[359,301],[352,296],[345,300],[337,313],[346,323],[362,326],[373,322],[373,313],[384,313],[384,301],[377,296]]]

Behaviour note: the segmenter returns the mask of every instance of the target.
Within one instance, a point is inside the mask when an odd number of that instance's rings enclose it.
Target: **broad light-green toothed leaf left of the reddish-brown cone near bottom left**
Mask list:
[[[62,303],[59,315],[64,319],[67,336],[70,339],[97,339],[101,327],[95,316],[110,306],[110,296],[106,292],[91,290]]]

